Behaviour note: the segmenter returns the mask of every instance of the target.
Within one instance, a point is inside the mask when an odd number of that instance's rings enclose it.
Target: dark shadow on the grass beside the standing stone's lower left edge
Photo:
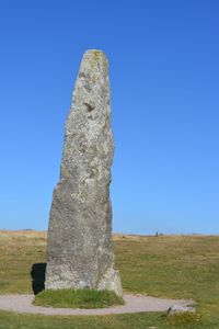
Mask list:
[[[37,295],[45,290],[45,273],[46,263],[35,263],[32,265],[31,276],[34,295]]]

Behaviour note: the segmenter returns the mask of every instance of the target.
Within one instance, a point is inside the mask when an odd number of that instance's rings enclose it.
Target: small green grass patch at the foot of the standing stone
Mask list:
[[[103,308],[124,305],[123,298],[108,291],[59,290],[43,291],[36,295],[35,305],[69,308]]]

